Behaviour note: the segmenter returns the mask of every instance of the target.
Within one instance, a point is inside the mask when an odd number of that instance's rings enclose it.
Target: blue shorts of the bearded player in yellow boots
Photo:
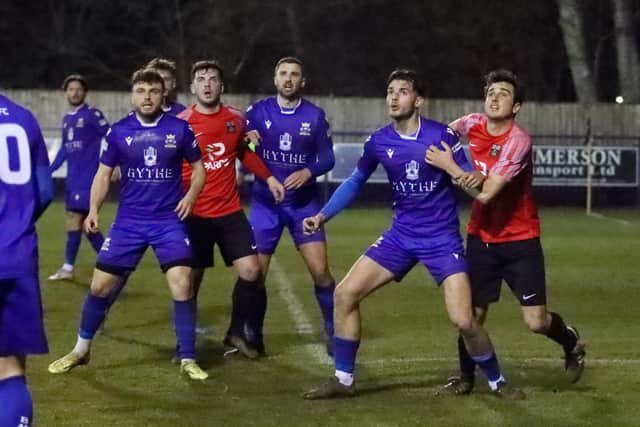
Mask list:
[[[98,252],[96,268],[121,276],[135,270],[148,246],[153,248],[163,272],[192,264],[191,242],[182,222],[116,220]]]

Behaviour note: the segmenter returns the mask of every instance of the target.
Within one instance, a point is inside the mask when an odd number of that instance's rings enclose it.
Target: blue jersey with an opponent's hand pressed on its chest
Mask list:
[[[449,175],[425,162],[431,145],[445,141],[462,169],[473,170],[456,134],[446,125],[420,118],[414,136],[400,135],[393,125],[375,131],[364,145],[357,168],[369,177],[384,167],[393,196],[393,227],[415,236],[459,231],[456,195]]]

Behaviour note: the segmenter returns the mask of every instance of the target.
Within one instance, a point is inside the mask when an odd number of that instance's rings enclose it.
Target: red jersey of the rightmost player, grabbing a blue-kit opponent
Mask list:
[[[540,219],[531,184],[531,138],[527,132],[514,123],[502,135],[491,135],[485,114],[464,116],[452,127],[468,138],[476,169],[486,176],[498,174],[509,181],[487,205],[473,202],[467,232],[485,243],[539,237]]]

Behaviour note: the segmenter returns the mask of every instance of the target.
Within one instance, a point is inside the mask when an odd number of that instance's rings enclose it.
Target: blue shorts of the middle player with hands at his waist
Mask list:
[[[284,227],[289,229],[296,248],[304,243],[325,242],[324,229],[312,235],[305,235],[302,231],[302,220],[320,212],[322,205],[318,200],[312,200],[304,206],[266,206],[256,200],[251,204],[249,222],[253,228],[258,252],[273,254],[282,236]]]

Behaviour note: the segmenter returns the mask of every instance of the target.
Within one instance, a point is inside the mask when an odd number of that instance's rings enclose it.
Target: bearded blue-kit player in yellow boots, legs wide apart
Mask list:
[[[99,210],[113,169],[122,171],[116,218],[98,253],[91,290],[82,308],[76,346],[49,365],[53,374],[89,362],[91,340],[105,318],[109,293],[119,278],[137,266],[151,246],[166,274],[174,301],[181,371],[191,379],[208,374],[195,361],[196,307],[189,283],[192,252],[182,222],[204,185],[205,172],[195,136],[187,122],[162,112],[164,81],[152,70],[132,77],[134,112],[113,125],[91,186],[85,229],[96,232]],[[192,167],[191,186],[182,192],[182,161]]]

